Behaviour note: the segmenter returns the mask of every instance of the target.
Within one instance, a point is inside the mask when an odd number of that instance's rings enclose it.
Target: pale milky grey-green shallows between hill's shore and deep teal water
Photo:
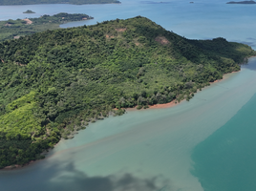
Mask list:
[[[254,58],[250,63],[256,66],[255,61]],[[226,80],[220,82],[220,86],[215,84],[210,86],[211,88],[205,88],[195,95],[194,99],[180,104],[179,107],[136,111],[122,117],[99,120],[86,131],[81,131],[74,139],[60,142],[46,159],[38,160],[34,165],[25,168],[0,172],[2,188],[13,188],[11,182],[22,182],[26,185],[30,184],[30,181],[32,184],[29,191],[36,186],[46,190],[45,184],[59,188],[66,186],[68,182],[71,185],[77,183],[76,177],[73,176],[75,172],[87,175],[81,177],[87,181],[98,177],[106,178],[109,175],[118,176],[118,169],[127,167],[124,172],[135,173],[136,169],[141,168],[148,176],[164,173],[164,176],[178,187],[189,186],[191,191],[203,191],[197,187],[200,185],[197,178],[189,173],[189,151],[221,127],[228,118],[234,116],[251,93],[256,92],[255,87],[248,89],[253,85],[252,81],[255,81],[256,76],[255,72],[247,70],[251,68],[249,65],[242,67],[242,73],[227,75]],[[237,96],[233,96],[234,94]],[[201,116],[200,120],[198,116]],[[139,159],[147,160],[141,166]],[[74,168],[68,168],[69,163],[74,164]],[[169,165],[168,168],[166,164]],[[179,169],[179,173],[175,173],[174,169]],[[71,173],[70,181],[62,182],[66,173]],[[40,179],[36,179],[37,176]],[[137,178],[146,179],[141,176],[143,175],[139,174]],[[84,184],[80,182],[78,185]],[[69,190],[68,188],[63,190]]]

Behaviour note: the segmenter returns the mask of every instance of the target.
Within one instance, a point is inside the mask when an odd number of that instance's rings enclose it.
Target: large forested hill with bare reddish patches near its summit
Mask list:
[[[189,100],[255,54],[140,16],[1,42],[0,167],[41,159],[60,138],[122,108]]]

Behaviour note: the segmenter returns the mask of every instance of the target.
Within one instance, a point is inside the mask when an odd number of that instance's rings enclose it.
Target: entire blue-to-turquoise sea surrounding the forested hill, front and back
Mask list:
[[[60,11],[82,12],[96,21],[147,16],[188,38],[223,36],[256,49],[255,6],[225,1],[128,1],[121,5],[0,7],[0,20]],[[31,15],[29,15],[31,16]],[[91,124],[62,140],[47,159],[0,171],[0,190],[229,191],[256,190],[256,58],[227,74],[189,102],[167,109],[131,111]]]

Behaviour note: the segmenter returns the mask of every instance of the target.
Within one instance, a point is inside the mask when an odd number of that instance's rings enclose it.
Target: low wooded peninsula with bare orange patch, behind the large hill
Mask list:
[[[63,23],[93,18],[87,14],[60,12],[53,16],[45,14],[39,18],[0,21],[0,41],[19,38],[20,36],[30,35],[35,32],[55,30],[59,29],[59,25]]]

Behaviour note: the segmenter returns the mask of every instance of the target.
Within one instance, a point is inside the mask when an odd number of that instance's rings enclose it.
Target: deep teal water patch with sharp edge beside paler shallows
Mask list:
[[[255,106],[256,94],[224,126],[193,150],[192,173],[199,177],[205,191],[256,189]]]

